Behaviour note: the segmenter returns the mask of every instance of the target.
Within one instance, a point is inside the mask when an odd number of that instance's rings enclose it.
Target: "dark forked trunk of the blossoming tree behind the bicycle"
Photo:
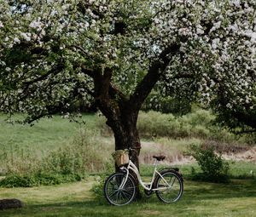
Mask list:
[[[166,71],[171,57],[180,48],[177,44],[171,44],[164,49],[158,60],[154,60],[148,67],[147,74],[137,84],[134,93],[126,95],[112,83],[113,68],[99,67],[94,71],[83,68],[83,72],[94,80],[94,92],[91,95],[96,100],[96,105],[107,117],[107,124],[113,130],[115,150],[128,148],[131,151],[131,160],[139,169],[139,154],[141,143],[137,132],[137,116],[143,106],[143,101],[159,81],[160,76]],[[138,182],[137,182],[138,184]],[[137,188],[139,190],[139,188]],[[139,197],[139,194],[138,194]]]

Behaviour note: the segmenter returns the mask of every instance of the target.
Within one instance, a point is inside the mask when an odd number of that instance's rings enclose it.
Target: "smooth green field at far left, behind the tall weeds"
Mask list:
[[[21,118],[21,115],[15,115],[15,118]],[[61,146],[63,142],[73,138],[79,133],[79,123],[70,123],[68,119],[61,116],[53,118],[43,118],[32,127],[28,124],[11,124],[4,120],[6,116],[0,114],[0,146],[23,149],[35,149],[40,151],[49,150],[56,146]],[[84,115],[85,121],[83,128],[95,127],[95,115]]]

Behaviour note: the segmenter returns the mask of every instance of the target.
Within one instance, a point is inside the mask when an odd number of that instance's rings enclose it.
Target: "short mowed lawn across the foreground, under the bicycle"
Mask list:
[[[60,186],[0,188],[0,197],[24,202],[24,208],[0,211],[0,216],[256,216],[255,180],[232,180],[230,184],[185,180],[183,197],[177,203],[160,203],[153,195],[124,207],[96,200],[90,191],[93,183],[90,177]]]

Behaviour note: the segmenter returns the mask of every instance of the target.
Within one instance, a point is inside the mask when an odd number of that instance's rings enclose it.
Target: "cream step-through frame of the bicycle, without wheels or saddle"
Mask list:
[[[122,189],[122,188],[125,186],[125,183],[126,183],[126,181],[127,181],[127,179],[128,179],[128,176],[129,176],[129,174],[130,174],[130,172],[129,172],[130,169],[131,169],[131,171],[133,171],[133,172],[137,175],[137,180],[139,181],[140,185],[143,186],[143,188],[146,189],[146,190],[148,190],[148,191],[150,191],[150,190],[152,190],[152,191],[159,191],[159,190],[165,190],[165,189],[167,189],[167,188],[172,187],[172,186],[170,186],[170,185],[168,184],[168,182],[166,182],[166,180],[163,178],[163,176],[160,174],[160,172],[157,171],[157,165],[158,165],[158,162],[157,162],[157,160],[155,160],[155,164],[154,164],[154,174],[153,174],[153,176],[152,176],[151,181],[150,181],[150,182],[143,182],[142,177],[141,177],[141,174],[139,173],[139,171],[138,171],[138,169],[137,169],[137,166],[136,166],[134,163],[132,163],[132,162],[131,162],[131,159],[130,159],[127,168],[125,168],[125,167],[122,167],[122,168],[121,168],[121,169],[123,169],[123,170],[126,171],[126,176],[125,176],[125,180],[123,180],[122,183],[121,183],[121,185],[119,186],[119,189]],[[166,183],[166,185],[167,185],[168,187],[161,187],[161,188],[154,188],[154,189],[152,189],[153,184],[154,184],[155,174],[160,175],[160,177],[164,180],[164,182]],[[173,185],[173,183],[172,183],[172,185]]]

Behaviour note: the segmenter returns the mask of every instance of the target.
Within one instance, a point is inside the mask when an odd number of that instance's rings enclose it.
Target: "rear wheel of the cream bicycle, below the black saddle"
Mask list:
[[[162,177],[161,177],[162,176]],[[174,203],[182,197],[183,180],[179,174],[172,171],[166,171],[155,180],[156,196],[164,203]]]

